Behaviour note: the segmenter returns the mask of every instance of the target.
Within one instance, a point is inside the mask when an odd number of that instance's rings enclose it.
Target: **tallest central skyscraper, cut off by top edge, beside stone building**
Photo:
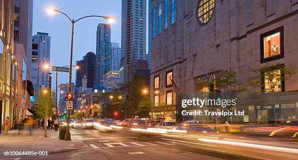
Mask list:
[[[138,60],[146,59],[146,0],[122,0],[120,82],[130,80]]]

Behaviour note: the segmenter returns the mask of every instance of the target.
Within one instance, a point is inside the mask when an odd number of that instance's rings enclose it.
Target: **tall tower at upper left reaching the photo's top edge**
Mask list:
[[[31,78],[33,0],[15,0],[14,41],[23,44],[27,55],[27,80]]]

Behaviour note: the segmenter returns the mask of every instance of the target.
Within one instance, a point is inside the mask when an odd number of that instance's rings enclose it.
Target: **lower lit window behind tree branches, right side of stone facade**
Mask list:
[[[265,74],[265,92],[281,91],[280,70],[266,72]]]

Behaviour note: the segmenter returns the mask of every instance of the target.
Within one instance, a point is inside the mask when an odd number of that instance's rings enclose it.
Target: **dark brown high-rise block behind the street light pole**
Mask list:
[[[76,66],[79,67],[75,74],[76,87],[82,87],[82,78],[87,77],[87,87],[93,88],[94,86],[94,72],[95,72],[95,54],[88,52],[83,59],[76,61]]]

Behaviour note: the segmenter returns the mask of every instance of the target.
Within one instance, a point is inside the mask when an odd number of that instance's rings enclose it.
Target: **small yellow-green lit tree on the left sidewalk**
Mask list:
[[[52,115],[52,107],[54,102],[52,99],[52,92],[50,89],[39,90],[37,93],[37,116],[44,119],[44,137],[47,137],[47,119]]]

